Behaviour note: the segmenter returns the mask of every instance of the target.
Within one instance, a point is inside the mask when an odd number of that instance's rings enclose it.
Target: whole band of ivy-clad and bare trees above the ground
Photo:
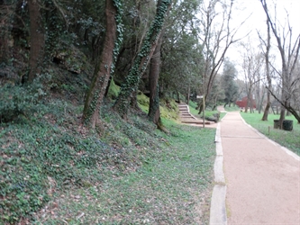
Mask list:
[[[159,98],[192,98],[200,113],[204,105],[197,95],[211,108],[255,96],[264,120],[273,103],[281,105],[280,121],[286,110],[299,121],[299,35],[280,23],[272,5],[260,2],[268,35],[258,33],[260,45],[252,46],[237,37],[245,21],[232,26],[234,1],[1,1],[1,120],[26,111],[12,99],[38,102],[46,90],[65,88],[71,74],[85,81],[82,121],[92,127],[102,126],[97,115],[111,83],[121,86],[115,111],[126,118],[137,94],[147,94],[149,118],[160,128]],[[226,58],[233,44],[244,52],[243,80]],[[281,68],[274,66],[271,48],[278,50]],[[24,94],[10,95],[12,86]],[[251,103],[246,112],[252,112]]]

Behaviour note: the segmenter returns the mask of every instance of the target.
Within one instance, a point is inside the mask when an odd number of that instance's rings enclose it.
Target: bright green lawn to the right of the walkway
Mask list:
[[[275,140],[280,145],[294,151],[300,156],[300,124],[294,116],[286,116],[286,120],[293,120],[294,129],[292,131],[274,129],[274,120],[279,119],[279,115],[269,114],[268,121],[261,121],[262,113],[241,112],[242,118],[259,132],[269,139]],[[269,132],[268,132],[269,130]]]

